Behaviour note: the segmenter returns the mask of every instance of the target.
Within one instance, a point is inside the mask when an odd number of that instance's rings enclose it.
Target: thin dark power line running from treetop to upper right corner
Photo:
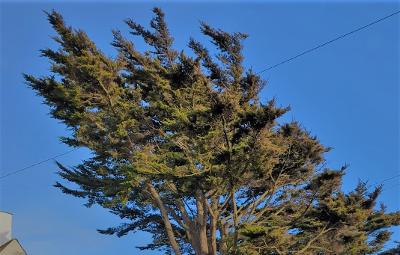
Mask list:
[[[260,73],[269,71],[269,70],[274,69],[274,68],[276,68],[276,67],[278,67],[278,66],[280,66],[280,65],[286,64],[286,63],[288,63],[288,62],[290,62],[290,61],[292,61],[292,60],[294,60],[294,59],[296,59],[296,58],[299,58],[299,57],[301,57],[301,56],[303,56],[303,55],[306,55],[306,54],[308,54],[308,53],[310,53],[310,52],[312,52],[312,51],[315,51],[315,50],[317,50],[317,49],[319,49],[319,48],[322,48],[322,47],[324,47],[324,46],[326,46],[326,45],[328,45],[328,44],[331,44],[331,43],[333,43],[333,42],[335,42],[335,41],[338,41],[338,40],[340,40],[340,39],[343,39],[343,38],[345,38],[345,37],[347,37],[347,36],[349,36],[349,35],[351,35],[351,34],[354,34],[354,33],[356,33],[356,32],[359,32],[359,31],[361,31],[361,30],[363,30],[363,29],[366,29],[366,28],[368,28],[368,27],[370,27],[370,26],[372,26],[372,25],[375,25],[375,24],[377,24],[377,23],[379,23],[379,22],[381,22],[381,21],[384,21],[384,20],[386,20],[386,19],[388,19],[388,18],[390,18],[390,17],[393,17],[393,16],[395,16],[395,15],[397,15],[397,14],[399,14],[399,13],[400,13],[400,11],[393,12],[393,13],[391,13],[391,14],[385,16],[385,17],[382,17],[382,18],[380,18],[380,19],[377,19],[377,20],[375,20],[375,21],[373,21],[373,22],[371,22],[371,23],[368,23],[368,24],[366,24],[366,25],[364,25],[364,26],[361,26],[361,27],[359,27],[359,28],[356,28],[356,29],[354,29],[354,30],[352,30],[352,31],[350,31],[350,32],[347,32],[347,33],[345,33],[345,34],[339,35],[339,36],[337,36],[337,37],[334,38],[334,39],[331,39],[331,40],[329,40],[329,41],[326,41],[326,42],[324,42],[324,43],[321,43],[321,44],[319,44],[319,45],[317,45],[317,46],[315,46],[315,47],[313,47],[313,48],[310,48],[310,49],[308,49],[308,50],[305,50],[305,51],[303,51],[303,52],[301,52],[301,53],[299,53],[299,54],[297,54],[297,55],[295,55],[295,56],[293,56],[293,57],[290,57],[290,58],[288,58],[288,59],[282,60],[281,62],[279,62],[279,63],[277,63],[277,64],[275,64],[275,65],[269,66],[269,67],[267,67],[267,68],[265,68],[265,69],[259,71],[257,74],[260,74]]]

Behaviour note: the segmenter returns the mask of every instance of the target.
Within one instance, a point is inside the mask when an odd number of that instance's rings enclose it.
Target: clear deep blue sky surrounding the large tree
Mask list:
[[[190,36],[203,40],[199,21],[250,35],[246,65],[255,71],[273,65],[338,34],[399,9],[397,3],[284,4],[1,4],[1,174],[65,152],[58,141],[63,125],[48,115],[41,99],[24,85],[21,73],[48,74],[39,49],[55,46],[42,10],[60,11],[68,24],[82,28],[109,55],[111,29],[126,31],[122,20],[148,24],[151,8],[166,12],[175,47]],[[399,16],[263,74],[269,81],[262,99],[290,105],[295,119],[334,148],[330,167],[348,163],[344,189],[359,179],[371,184],[399,174]],[[143,46],[141,41],[139,47]],[[78,150],[59,160],[74,165],[87,157]],[[0,180],[0,210],[14,214],[14,236],[30,255],[159,254],[135,245],[143,233],[124,238],[103,236],[97,228],[119,219],[52,187],[59,177],[53,162]],[[380,201],[400,209],[400,178],[385,182]],[[400,239],[400,231],[395,239]]]

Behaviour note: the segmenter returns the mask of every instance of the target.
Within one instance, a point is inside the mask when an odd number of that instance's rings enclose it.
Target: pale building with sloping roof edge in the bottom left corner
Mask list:
[[[0,255],[26,255],[16,239],[12,239],[12,215],[0,212]]]

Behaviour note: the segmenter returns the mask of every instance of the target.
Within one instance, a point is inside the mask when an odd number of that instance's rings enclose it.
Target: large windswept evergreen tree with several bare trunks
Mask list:
[[[25,75],[71,136],[93,156],[58,163],[64,193],[98,204],[126,223],[103,234],[146,231],[141,249],[175,254],[371,254],[400,213],[375,209],[381,188],[340,191],[344,168],[324,168],[320,144],[289,109],[258,97],[264,81],[242,65],[242,33],[202,23],[218,50],[190,39],[193,56],[172,48],[164,13],[151,30],[126,20],[150,46],[135,49],[113,31],[115,58],[53,11],[57,50],[44,49],[53,75]]]

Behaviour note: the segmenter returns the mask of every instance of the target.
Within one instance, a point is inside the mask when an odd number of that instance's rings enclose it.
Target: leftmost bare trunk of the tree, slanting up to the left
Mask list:
[[[165,231],[167,232],[168,241],[171,244],[172,249],[174,250],[176,255],[181,255],[182,253],[181,250],[179,249],[178,243],[176,242],[174,230],[172,228],[171,221],[169,220],[168,212],[164,206],[164,203],[161,200],[160,195],[150,182],[146,183],[146,187],[149,190],[154,203],[157,205],[158,209],[161,212],[161,217],[164,222]]]

